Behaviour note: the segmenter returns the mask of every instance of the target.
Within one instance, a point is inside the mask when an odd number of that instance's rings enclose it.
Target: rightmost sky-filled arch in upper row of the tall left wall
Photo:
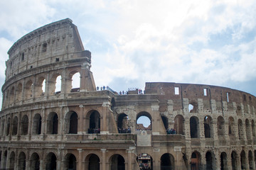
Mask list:
[[[66,81],[68,89],[71,92],[80,91],[80,72],[73,70],[70,72],[68,79],[70,79],[70,81]]]

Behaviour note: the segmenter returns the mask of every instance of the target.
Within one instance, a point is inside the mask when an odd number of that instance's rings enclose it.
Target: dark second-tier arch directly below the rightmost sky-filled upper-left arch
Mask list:
[[[78,134],[78,114],[75,111],[65,115],[65,133]]]

